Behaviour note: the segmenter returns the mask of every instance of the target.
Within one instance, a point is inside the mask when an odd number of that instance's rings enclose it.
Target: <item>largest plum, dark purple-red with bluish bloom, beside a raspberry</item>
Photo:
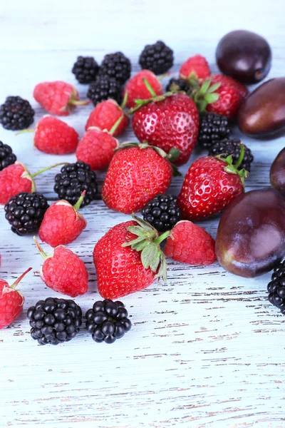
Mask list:
[[[285,256],[285,199],[272,188],[251,190],[230,203],[219,222],[220,265],[243,277],[273,269]]]

